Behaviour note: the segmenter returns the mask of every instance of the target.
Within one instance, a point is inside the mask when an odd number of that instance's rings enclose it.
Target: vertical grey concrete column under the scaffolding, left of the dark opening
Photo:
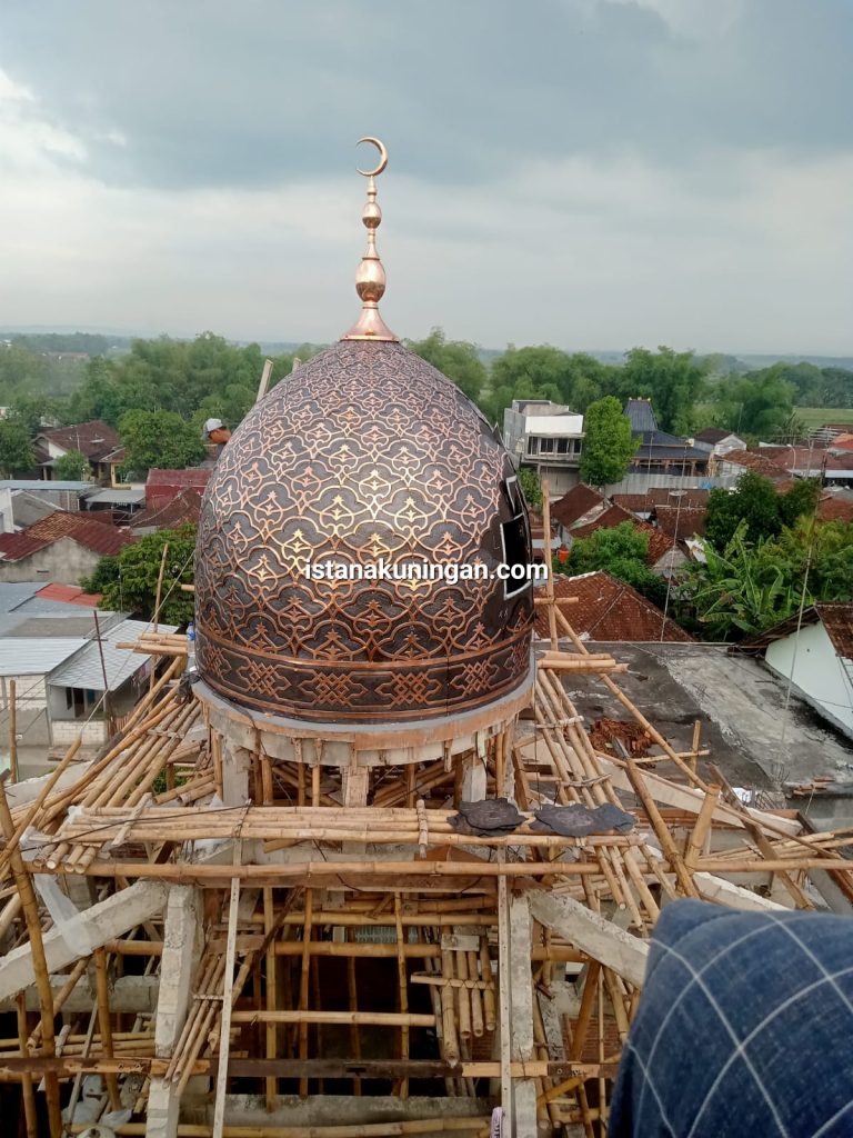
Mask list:
[[[158,1058],[171,1058],[187,1020],[201,954],[201,893],[194,885],[169,885],[154,1036]],[[176,1138],[180,1110],[177,1085],[151,1079],[146,1138]]]

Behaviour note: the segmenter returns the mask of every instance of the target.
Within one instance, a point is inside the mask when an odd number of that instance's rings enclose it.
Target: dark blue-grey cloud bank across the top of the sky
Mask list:
[[[322,176],[366,129],[441,182],[531,157],[852,142],[848,0],[744,0],[695,35],[608,0],[45,0],[0,28],[9,74],[121,184]]]

